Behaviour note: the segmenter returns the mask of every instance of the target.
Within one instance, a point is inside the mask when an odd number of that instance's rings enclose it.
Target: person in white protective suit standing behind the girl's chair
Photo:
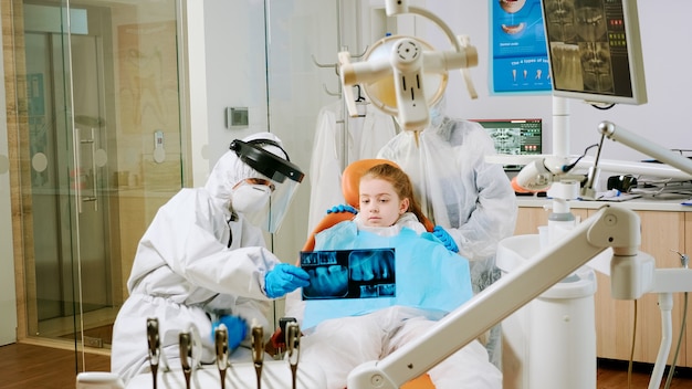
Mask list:
[[[516,198],[502,165],[485,161],[494,155],[492,138],[478,123],[443,114],[444,98],[430,108],[430,124],[421,132],[401,132],[378,158],[406,171],[433,234],[470,261],[473,292],[500,277],[497,243],[514,234]],[[491,329],[486,348],[501,367],[500,326]]]

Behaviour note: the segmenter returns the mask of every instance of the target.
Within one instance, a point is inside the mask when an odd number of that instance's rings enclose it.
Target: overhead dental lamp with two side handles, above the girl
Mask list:
[[[394,43],[391,52],[385,57],[350,63],[348,52],[338,53],[344,97],[350,116],[358,115],[352,86],[376,83],[387,77],[394,80],[397,122],[405,130],[423,129],[430,120],[423,83],[426,73],[445,74],[449,70],[461,69],[471,97],[476,97],[465,70],[478,65],[478,51],[468,44],[468,40],[454,36],[441,19],[424,9],[409,7],[408,1],[387,0],[386,13],[390,17],[416,13],[430,19],[444,31],[455,51],[426,51],[420,41],[402,36]],[[378,108],[386,114],[394,115],[382,107],[378,106]]]

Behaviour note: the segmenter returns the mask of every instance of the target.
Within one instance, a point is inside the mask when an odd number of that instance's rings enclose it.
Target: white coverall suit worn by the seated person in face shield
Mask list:
[[[113,330],[112,371],[125,382],[149,370],[148,317],[159,320],[161,351],[171,367],[180,366],[179,334],[192,324],[202,340],[201,362],[214,361],[211,320],[219,313],[256,319],[271,335],[264,275],[280,261],[265,249],[262,231],[229,210],[233,186],[251,176],[256,172],[227,151],[206,187],[180,190],[139,241],[130,295]],[[240,347],[230,358],[251,361],[250,355]]]

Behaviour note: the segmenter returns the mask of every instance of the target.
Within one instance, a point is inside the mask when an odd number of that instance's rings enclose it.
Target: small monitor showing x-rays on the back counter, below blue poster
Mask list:
[[[538,155],[543,151],[543,119],[472,119],[495,141],[501,155]],[[507,171],[520,170],[522,165],[504,165]]]

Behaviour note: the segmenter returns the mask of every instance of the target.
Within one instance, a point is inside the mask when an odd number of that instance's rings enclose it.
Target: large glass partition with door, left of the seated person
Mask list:
[[[107,349],[137,242],[184,186],[180,1],[11,3],[18,337]]]

